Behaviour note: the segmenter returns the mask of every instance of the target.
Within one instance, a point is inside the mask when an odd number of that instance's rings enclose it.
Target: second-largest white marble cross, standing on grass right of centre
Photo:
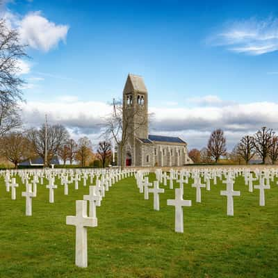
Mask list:
[[[174,231],[183,233],[183,206],[191,206],[191,200],[184,200],[182,189],[176,188],[174,199],[167,199],[167,205],[175,208]]]

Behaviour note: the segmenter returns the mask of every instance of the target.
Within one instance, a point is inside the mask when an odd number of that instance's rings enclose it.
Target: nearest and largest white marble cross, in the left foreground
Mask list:
[[[67,216],[66,224],[76,227],[75,264],[81,268],[87,268],[87,227],[97,227],[97,218],[87,216],[87,201],[76,201],[76,215]]]

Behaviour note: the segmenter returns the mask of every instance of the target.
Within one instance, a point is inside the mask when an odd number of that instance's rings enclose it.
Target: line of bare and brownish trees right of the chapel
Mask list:
[[[220,158],[224,158],[238,164],[249,164],[252,159],[260,160],[263,164],[275,164],[278,161],[278,136],[275,131],[263,126],[254,135],[243,136],[229,153],[224,131],[216,129],[211,133],[206,147],[191,149],[188,155],[194,163],[218,163]]]

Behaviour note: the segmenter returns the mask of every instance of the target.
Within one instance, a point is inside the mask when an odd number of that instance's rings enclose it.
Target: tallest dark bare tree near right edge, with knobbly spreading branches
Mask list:
[[[263,164],[265,164],[265,158],[268,156],[270,147],[273,145],[272,138],[275,136],[275,132],[272,129],[267,129],[263,126],[254,134],[254,147],[256,148],[257,154],[261,156]]]

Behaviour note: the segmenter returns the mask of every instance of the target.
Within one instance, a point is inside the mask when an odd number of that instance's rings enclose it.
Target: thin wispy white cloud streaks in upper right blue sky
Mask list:
[[[278,18],[251,18],[229,22],[222,31],[208,38],[207,42],[214,46],[227,47],[229,51],[250,55],[277,51]]]

